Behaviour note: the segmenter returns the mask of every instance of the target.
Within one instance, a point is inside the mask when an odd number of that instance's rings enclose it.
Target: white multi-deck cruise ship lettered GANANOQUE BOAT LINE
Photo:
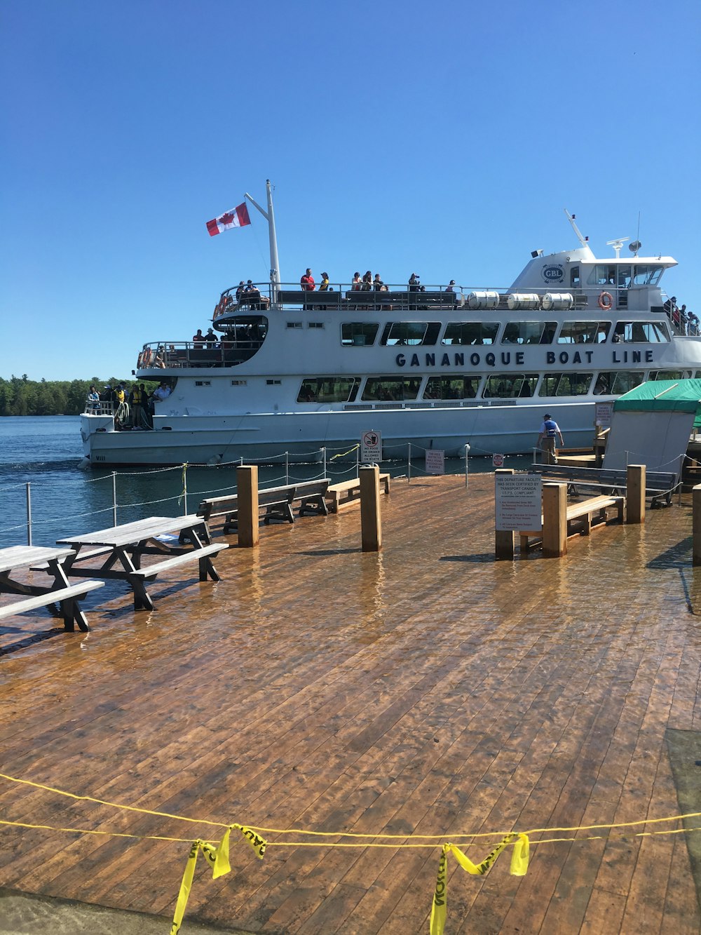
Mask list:
[[[247,197],[250,198],[249,195]],[[138,352],[136,381],[165,381],[149,419],[110,403],[81,417],[91,465],[313,460],[381,433],[385,456],[409,443],[447,456],[532,452],[542,416],[568,447],[590,445],[594,406],[642,381],[701,376],[701,338],[661,289],[670,256],[609,241],[531,254],[505,289],[279,281],[268,183],[271,278],[236,301],[222,293],[208,342],[158,335]],[[566,212],[565,212],[566,213]],[[693,333],[691,333],[693,332]],[[165,393],[162,394],[165,396]],[[316,455],[314,454],[316,453]]]

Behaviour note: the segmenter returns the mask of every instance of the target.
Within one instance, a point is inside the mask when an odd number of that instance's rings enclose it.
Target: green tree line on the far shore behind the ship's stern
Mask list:
[[[28,380],[27,375],[10,377],[4,380],[0,377],[0,416],[3,415],[79,415],[85,410],[85,400],[91,385],[101,391],[107,383],[116,386],[122,383],[124,388],[131,389],[134,378],[120,380],[109,377],[101,380],[92,377],[90,380]],[[150,392],[157,383],[145,381]]]

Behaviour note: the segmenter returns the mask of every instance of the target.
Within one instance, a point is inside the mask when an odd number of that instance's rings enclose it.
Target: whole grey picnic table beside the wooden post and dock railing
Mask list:
[[[135,611],[153,610],[147,582],[154,581],[162,571],[187,562],[199,562],[201,582],[207,581],[207,576],[212,581],[221,581],[210,556],[228,548],[227,542],[210,543],[207,524],[196,515],[149,516],[135,523],[66,536],[59,540],[59,545],[69,545],[72,550],[64,564],[66,574],[129,583],[134,591]],[[142,568],[144,555],[157,555],[162,561]],[[85,568],[82,563],[91,558],[100,558],[102,565]]]

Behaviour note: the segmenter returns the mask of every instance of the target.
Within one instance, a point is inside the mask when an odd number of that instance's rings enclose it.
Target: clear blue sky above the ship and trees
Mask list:
[[[637,235],[701,313],[697,3],[5,0],[0,376],[126,375],[267,277],[508,286]],[[625,248],[624,248],[625,249]]]

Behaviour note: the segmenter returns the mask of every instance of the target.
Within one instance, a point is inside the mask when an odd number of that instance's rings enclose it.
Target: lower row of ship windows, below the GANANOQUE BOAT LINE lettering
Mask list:
[[[693,370],[651,370],[648,380],[684,380],[701,376]],[[595,377],[595,380],[594,380]],[[620,396],[646,379],[643,370],[601,370],[597,373],[494,373],[481,376],[428,377],[422,399],[518,399],[523,396]],[[298,403],[410,402],[420,398],[422,377],[308,377],[302,381]],[[538,381],[540,383],[538,384]],[[281,380],[265,381],[279,386]],[[246,380],[232,380],[246,386]],[[210,386],[198,380],[195,386]]]

